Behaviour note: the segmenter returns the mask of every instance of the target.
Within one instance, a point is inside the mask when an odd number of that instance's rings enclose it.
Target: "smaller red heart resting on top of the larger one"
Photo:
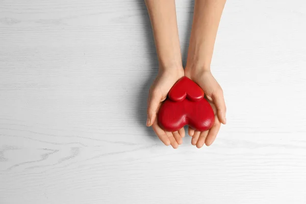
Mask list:
[[[199,101],[204,97],[204,92],[191,79],[183,77],[170,89],[168,96],[173,101],[183,101],[186,96],[189,100]]]

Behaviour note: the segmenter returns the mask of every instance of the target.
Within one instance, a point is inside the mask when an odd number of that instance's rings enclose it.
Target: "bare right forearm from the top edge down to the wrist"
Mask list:
[[[195,0],[186,67],[210,70],[225,2],[226,0]]]

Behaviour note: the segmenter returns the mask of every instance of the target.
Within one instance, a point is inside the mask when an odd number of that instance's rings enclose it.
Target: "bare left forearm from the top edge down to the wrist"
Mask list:
[[[161,68],[182,67],[174,0],[146,0]]]

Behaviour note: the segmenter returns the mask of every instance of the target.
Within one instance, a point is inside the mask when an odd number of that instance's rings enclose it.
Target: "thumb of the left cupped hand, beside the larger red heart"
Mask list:
[[[161,93],[155,90],[150,91],[148,98],[148,109],[147,109],[147,121],[146,125],[151,126],[156,118],[160,102],[161,102]]]

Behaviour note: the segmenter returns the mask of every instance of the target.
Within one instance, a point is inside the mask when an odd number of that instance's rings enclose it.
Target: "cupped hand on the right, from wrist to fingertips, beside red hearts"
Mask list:
[[[204,132],[199,132],[189,127],[188,134],[192,137],[191,144],[201,148],[204,144],[211,145],[220,130],[221,123],[226,123],[226,106],[223,91],[210,70],[185,69],[186,77],[196,82],[204,91],[215,113],[215,123],[213,127]]]

